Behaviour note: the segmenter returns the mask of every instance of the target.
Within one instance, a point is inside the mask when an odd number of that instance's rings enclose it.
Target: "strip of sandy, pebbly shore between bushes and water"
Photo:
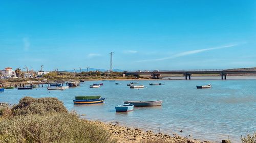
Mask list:
[[[118,143],[141,143],[141,142],[147,142],[147,141],[159,141],[159,142],[209,142],[209,141],[202,141],[202,140],[196,140],[191,139],[190,137],[181,137],[178,135],[170,136],[168,134],[160,134],[160,133],[154,133],[153,131],[144,131],[142,129],[137,128],[129,128],[118,125],[118,123],[103,123],[100,121],[88,121],[86,122],[96,124],[98,126],[103,127],[106,130],[109,130],[113,137],[118,139]]]

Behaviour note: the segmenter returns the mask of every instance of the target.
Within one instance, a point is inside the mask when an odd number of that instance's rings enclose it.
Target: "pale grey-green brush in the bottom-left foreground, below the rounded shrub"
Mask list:
[[[116,139],[108,131],[72,113],[48,112],[4,118],[0,122],[0,142],[112,143]]]

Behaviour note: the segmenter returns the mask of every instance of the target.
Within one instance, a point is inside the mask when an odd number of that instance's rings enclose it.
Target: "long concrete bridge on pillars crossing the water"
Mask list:
[[[181,74],[185,79],[191,79],[193,74],[218,74],[221,79],[227,79],[228,74],[256,74],[256,70],[243,71],[243,70],[173,70],[173,71],[137,71],[127,72],[125,75],[151,75],[153,78],[159,78],[160,75],[176,75]]]

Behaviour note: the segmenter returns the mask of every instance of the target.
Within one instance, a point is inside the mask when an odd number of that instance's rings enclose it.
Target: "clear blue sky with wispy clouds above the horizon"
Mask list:
[[[0,69],[256,67],[256,1],[1,1]]]

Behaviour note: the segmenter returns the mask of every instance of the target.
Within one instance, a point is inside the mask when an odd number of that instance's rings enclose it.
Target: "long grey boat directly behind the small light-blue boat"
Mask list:
[[[156,101],[124,101],[124,104],[133,104],[134,106],[162,106],[162,100]]]

